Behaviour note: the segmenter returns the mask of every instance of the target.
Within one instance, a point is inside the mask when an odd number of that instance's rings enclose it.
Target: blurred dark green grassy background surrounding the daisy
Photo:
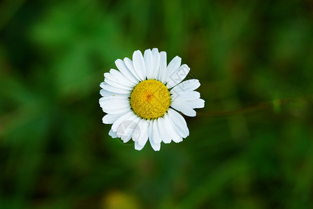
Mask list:
[[[180,144],[108,136],[99,84],[158,47],[201,82]],[[0,208],[313,208],[313,1],[0,2]]]

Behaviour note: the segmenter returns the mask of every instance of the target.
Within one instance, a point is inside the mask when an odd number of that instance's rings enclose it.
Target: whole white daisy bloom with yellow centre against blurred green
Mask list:
[[[149,139],[158,151],[162,141],[178,143],[189,135],[187,123],[177,111],[194,117],[194,109],[203,108],[205,101],[194,91],[200,86],[198,79],[182,82],[190,68],[181,61],[175,56],[167,65],[166,52],[154,48],[143,55],[138,50],[133,52],[133,61],[117,59],[119,70],[104,73],[99,103],[106,113],[103,123],[112,124],[112,138],[119,137],[124,143],[133,139],[136,150]]]

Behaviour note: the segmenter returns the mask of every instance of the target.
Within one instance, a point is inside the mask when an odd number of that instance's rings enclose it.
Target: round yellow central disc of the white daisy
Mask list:
[[[156,80],[145,80],[133,88],[131,108],[141,118],[153,119],[163,116],[170,107],[170,92]]]

